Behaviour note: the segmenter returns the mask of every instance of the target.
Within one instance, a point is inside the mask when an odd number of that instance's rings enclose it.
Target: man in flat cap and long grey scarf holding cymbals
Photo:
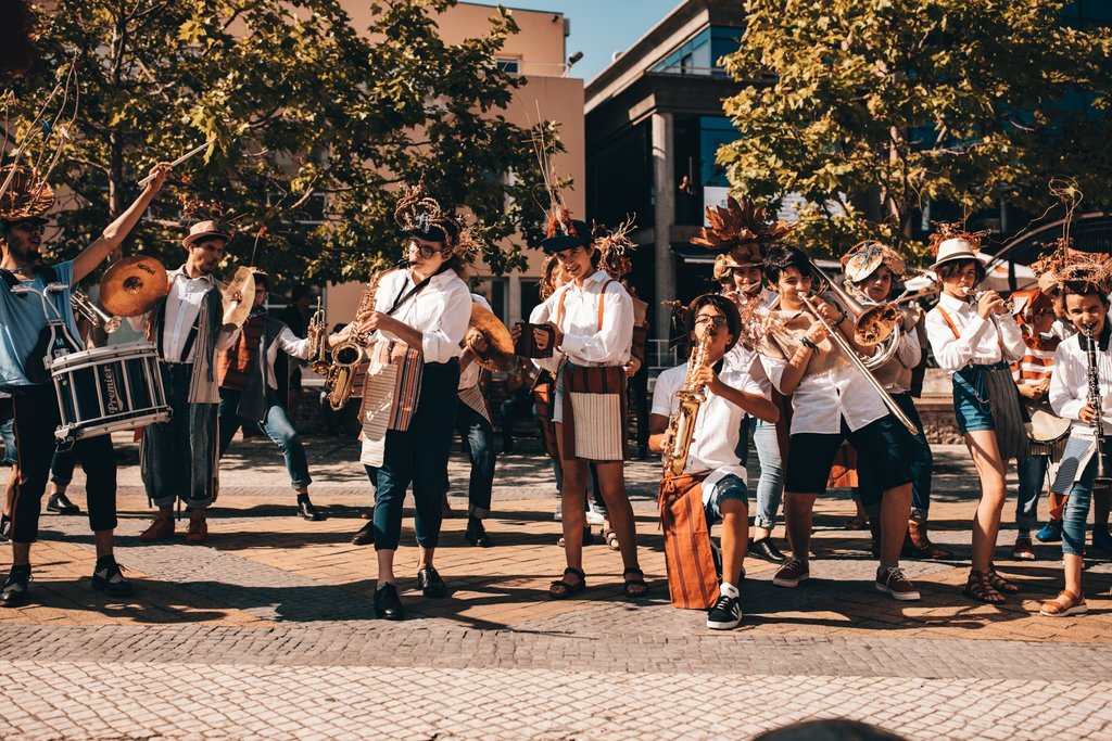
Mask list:
[[[173,537],[173,503],[189,508],[187,543],[208,539],[206,510],[219,477],[217,353],[231,347],[239,328],[224,323],[220,282],[212,274],[231,234],[216,221],[199,221],[181,240],[186,261],[167,273],[169,291],[153,309],[131,320],[146,327],[158,348],[171,417],[143,430],[140,472],[158,517],[139,535],[153,542]]]

